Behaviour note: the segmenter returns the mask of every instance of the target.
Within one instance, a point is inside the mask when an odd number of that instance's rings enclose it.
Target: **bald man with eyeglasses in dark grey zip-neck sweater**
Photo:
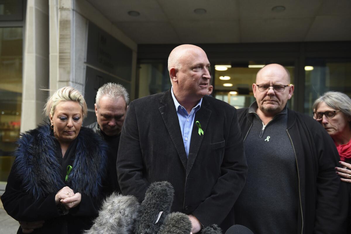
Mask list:
[[[257,234],[345,233],[338,153],[317,121],[286,107],[289,71],[264,66],[252,90],[256,101],[238,110],[249,170],[236,224]]]

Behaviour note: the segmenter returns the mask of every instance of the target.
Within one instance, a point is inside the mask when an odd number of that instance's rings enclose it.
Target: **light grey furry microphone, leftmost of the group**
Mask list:
[[[135,196],[112,193],[102,202],[99,216],[84,234],[133,234],[139,211],[140,204]]]

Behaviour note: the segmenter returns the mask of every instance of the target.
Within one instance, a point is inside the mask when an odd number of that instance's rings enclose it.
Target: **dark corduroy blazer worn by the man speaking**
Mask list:
[[[198,134],[196,121],[204,135]],[[237,111],[229,104],[203,98],[188,158],[170,90],[129,105],[117,157],[124,195],[142,201],[150,183],[169,181],[175,190],[171,211],[193,214],[204,226],[218,224],[226,230],[234,223],[231,209],[246,172]]]

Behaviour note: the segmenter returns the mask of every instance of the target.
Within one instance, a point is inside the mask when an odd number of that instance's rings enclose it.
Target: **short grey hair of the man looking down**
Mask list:
[[[129,103],[129,94],[128,94],[126,88],[120,84],[115,84],[115,83],[110,82],[110,83],[102,85],[98,89],[98,92],[96,93],[96,98],[95,98],[95,104],[98,106],[98,108],[100,107],[99,106],[100,99],[103,96],[107,96],[107,97],[114,98],[114,99],[117,99],[120,96],[122,96],[126,102],[126,106]]]

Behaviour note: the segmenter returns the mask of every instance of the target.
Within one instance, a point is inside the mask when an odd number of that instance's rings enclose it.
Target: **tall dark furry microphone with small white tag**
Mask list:
[[[135,234],[157,234],[165,217],[170,213],[174,189],[170,182],[150,184],[145,200],[141,203],[140,217],[136,222]]]

